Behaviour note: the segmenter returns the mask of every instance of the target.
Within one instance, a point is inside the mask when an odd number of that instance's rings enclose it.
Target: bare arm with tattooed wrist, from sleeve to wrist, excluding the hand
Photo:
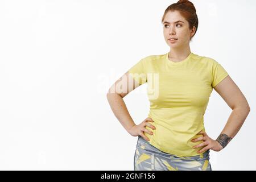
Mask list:
[[[216,92],[224,99],[226,104],[233,110],[221,134],[216,139],[224,148],[241,129],[243,122],[250,112],[249,104],[241,90],[230,76],[227,76],[214,87]]]

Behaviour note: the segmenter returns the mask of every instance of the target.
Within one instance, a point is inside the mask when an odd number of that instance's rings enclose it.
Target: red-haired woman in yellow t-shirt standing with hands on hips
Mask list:
[[[112,85],[107,98],[122,126],[138,136],[134,170],[210,171],[209,150],[220,151],[234,138],[250,107],[221,64],[191,52],[198,27],[193,3],[168,6],[162,23],[170,52],[141,59]],[[146,82],[153,85],[148,87],[150,112],[136,125],[122,98]],[[216,140],[204,128],[213,88],[233,110]]]

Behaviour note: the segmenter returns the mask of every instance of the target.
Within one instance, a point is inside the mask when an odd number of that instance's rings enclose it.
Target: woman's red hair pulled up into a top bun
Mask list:
[[[172,5],[168,6],[164,11],[162,23],[168,11],[179,11],[179,13],[188,21],[189,30],[192,30],[193,26],[195,26],[197,31],[198,18],[196,14],[196,8],[192,2],[188,0],[179,0],[177,3],[173,3]],[[195,34],[193,36],[195,36]],[[193,36],[191,36],[190,40],[193,38]]]

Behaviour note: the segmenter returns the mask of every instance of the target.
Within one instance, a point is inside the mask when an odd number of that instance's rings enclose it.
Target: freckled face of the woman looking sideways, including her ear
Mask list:
[[[181,21],[181,22],[177,22]],[[163,20],[164,40],[172,48],[183,48],[188,46],[191,36],[196,30],[195,26],[189,30],[188,21],[181,16],[179,11],[168,11]],[[192,32],[193,31],[193,32]],[[176,38],[171,41],[169,39]]]

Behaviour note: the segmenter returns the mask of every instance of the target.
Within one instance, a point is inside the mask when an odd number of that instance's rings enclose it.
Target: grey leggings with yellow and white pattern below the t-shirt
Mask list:
[[[212,171],[209,159],[209,150],[196,156],[176,156],[158,150],[138,136],[134,171]]]

